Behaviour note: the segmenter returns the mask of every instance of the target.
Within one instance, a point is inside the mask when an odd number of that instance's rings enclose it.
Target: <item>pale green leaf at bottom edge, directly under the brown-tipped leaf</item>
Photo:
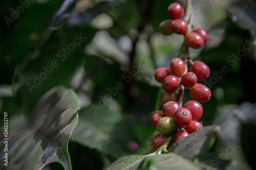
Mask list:
[[[162,155],[155,155],[151,157],[147,157],[142,166],[149,165],[150,169],[155,170],[197,170],[201,169],[198,165],[196,165],[193,161],[186,159],[180,155],[175,153],[170,154],[162,154]]]

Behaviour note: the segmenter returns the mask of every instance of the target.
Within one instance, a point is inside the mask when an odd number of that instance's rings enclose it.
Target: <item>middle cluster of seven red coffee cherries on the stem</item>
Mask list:
[[[162,83],[164,92],[160,98],[160,105],[169,101],[178,99],[178,89],[181,85],[190,89],[189,93],[192,99],[197,102],[205,103],[210,100],[210,89],[198,83],[198,81],[206,80],[210,75],[209,67],[202,61],[195,61],[191,64],[189,72],[185,73],[185,63],[179,58],[175,58],[170,62],[170,68],[158,68],[155,72],[155,79]]]

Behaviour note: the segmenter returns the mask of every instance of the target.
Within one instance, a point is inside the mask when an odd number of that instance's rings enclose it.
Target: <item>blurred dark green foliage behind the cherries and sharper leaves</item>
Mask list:
[[[60,15],[55,12],[63,1],[27,2],[29,7],[16,16],[24,6],[20,1],[0,1],[0,110],[10,115],[9,132],[27,123],[42,94],[63,85],[75,90],[81,108],[69,143],[73,169],[105,169],[121,156],[153,152],[150,115],[160,86],[154,73],[169,67],[183,42],[182,36],[164,36],[158,28],[174,1],[80,0]],[[202,104],[200,120],[223,129],[199,162],[218,169],[255,169],[255,1],[192,3],[193,24],[209,33],[203,50],[190,50],[193,60],[211,69],[203,83],[212,97]],[[6,17],[12,20],[7,23]],[[28,83],[34,84],[53,61],[58,66],[29,90]],[[185,91],[184,103],[189,100]],[[233,142],[239,150],[221,157]],[[62,167],[53,163],[45,169]]]

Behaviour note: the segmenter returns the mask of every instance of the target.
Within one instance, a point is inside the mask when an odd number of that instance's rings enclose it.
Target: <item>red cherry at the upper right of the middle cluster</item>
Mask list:
[[[204,81],[210,76],[210,68],[202,61],[195,61],[189,70],[197,75],[198,81]]]

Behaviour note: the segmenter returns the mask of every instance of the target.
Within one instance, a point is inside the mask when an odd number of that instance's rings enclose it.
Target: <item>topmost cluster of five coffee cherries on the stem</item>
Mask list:
[[[202,28],[196,28],[188,32],[187,23],[182,19],[184,8],[181,4],[170,4],[167,12],[170,19],[162,21],[159,26],[159,30],[162,34],[171,35],[176,33],[184,35],[186,44],[195,49],[201,48],[208,41],[208,34]]]

